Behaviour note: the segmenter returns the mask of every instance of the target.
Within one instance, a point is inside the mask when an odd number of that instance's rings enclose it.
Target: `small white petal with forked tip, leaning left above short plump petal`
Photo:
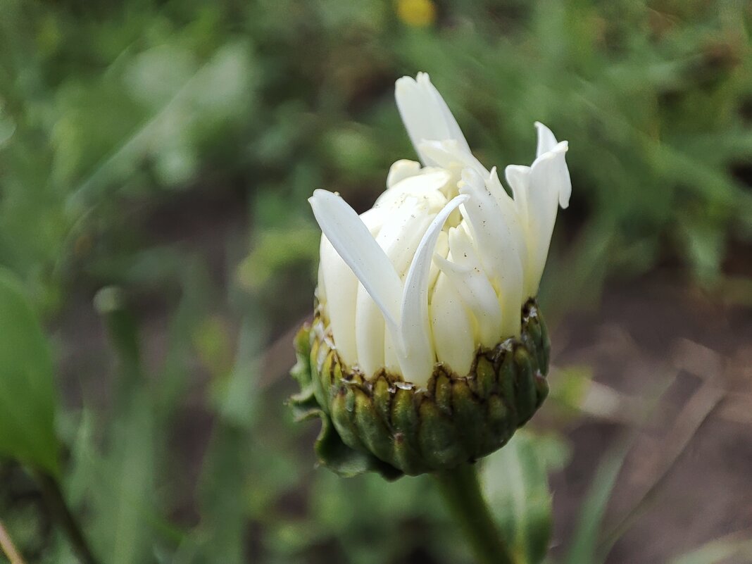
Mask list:
[[[472,240],[464,230],[450,229],[449,248],[450,259],[434,256],[434,261],[447,275],[462,302],[475,318],[475,341],[485,347],[493,347],[502,336],[502,309],[499,298],[481,271],[481,262],[475,253]]]

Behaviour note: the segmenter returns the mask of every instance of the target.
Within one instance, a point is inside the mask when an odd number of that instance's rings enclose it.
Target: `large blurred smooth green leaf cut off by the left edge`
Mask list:
[[[59,477],[50,348],[17,278],[0,268],[0,456]]]

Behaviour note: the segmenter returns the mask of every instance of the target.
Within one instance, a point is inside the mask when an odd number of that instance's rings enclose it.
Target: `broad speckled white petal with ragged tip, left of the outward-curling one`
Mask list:
[[[501,191],[504,192],[503,188]],[[471,196],[470,202],[462,207],[462,214],[470,223],[484,270],[499,294],[502,335],[518,335],[523,302],[522,253],[526,254],[526,248],[521,247],[523,236],[514,205],[506,193],[498,194],[497,199],[472,168],[462,171],[459,192]]]

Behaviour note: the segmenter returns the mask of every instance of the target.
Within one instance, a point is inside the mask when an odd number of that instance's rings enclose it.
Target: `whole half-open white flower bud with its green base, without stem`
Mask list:
[[[317,452],[345,475],[416,475],[485,456],[547,394],[535,295],[571,193],[566,141],[536,123],[535,161],[505,170],[509,196],[428,75],[398,80],[396,101],[422,165],[395,162],[360,216],[335,193],[310,199],[323,237],[293,405],[322,417]]]

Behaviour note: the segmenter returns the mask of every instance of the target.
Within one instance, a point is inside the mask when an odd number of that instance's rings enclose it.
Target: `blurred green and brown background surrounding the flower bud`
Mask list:
[[[414,158],[417,71],[487,165],[531,162],[535,120],[570,143],[552,396],[487,459],[500,517],[553,509],[550,562],[750,562],[750,26],[732,0],[0,0],[0,264],[102,562],[471,562],[430,478],[315,468],[284,406],[306,199],[364,211]],[[0,520],[27,562],[76,562],[8,453]]]

